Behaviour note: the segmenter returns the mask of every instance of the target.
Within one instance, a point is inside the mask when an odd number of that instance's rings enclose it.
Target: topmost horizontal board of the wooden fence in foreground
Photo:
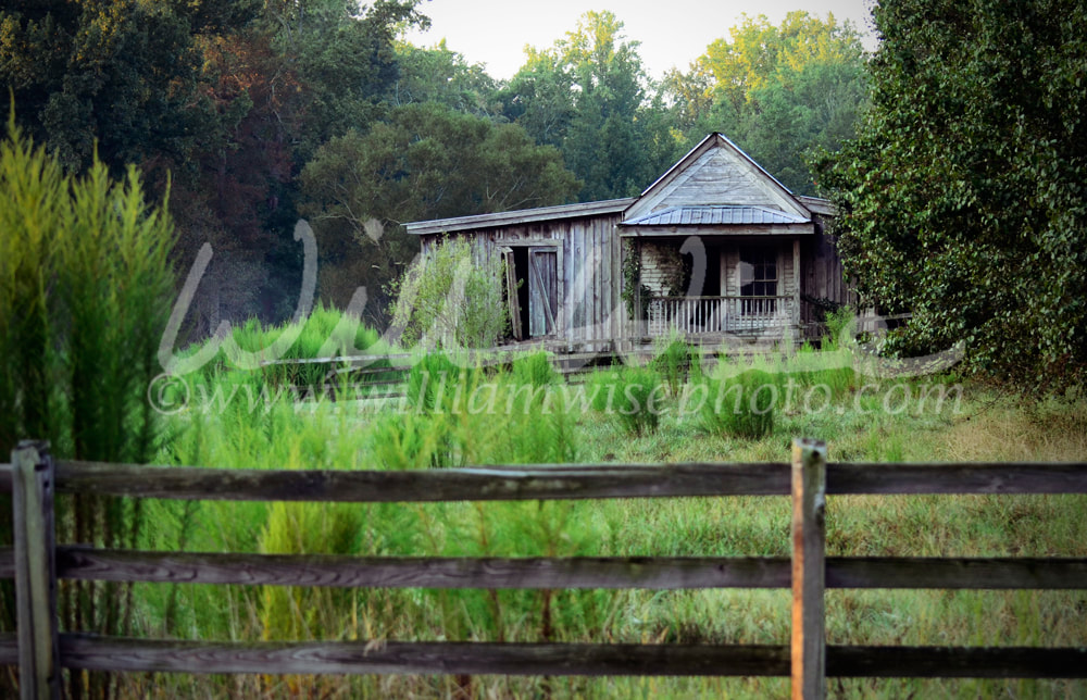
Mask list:
[[[59,461],[59,492],[143,498],[420,502],[457,500],[787,496],[789,465],[510,465],[418,472],[213,470]],[[9,472],[10,473],[10,472]],[[0,489],[11,478],[0,468]],[[829,463],[826,492],[1087,493],[1087,465]]]

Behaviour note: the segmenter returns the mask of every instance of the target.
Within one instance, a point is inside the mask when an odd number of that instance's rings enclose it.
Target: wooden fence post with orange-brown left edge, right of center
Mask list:
[[[826,443],[792,440],[792,698],[826,697]]]

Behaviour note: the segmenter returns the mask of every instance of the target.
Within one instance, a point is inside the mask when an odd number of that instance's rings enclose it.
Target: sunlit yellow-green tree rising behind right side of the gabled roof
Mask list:
[[[815,189],[805,155],[837,150],[867,103],[860,35],[807,12],[780,25],[745,16],[732,40],[713,41],[687,74],[662,86],[692,145],[722,132],[799,193]]]

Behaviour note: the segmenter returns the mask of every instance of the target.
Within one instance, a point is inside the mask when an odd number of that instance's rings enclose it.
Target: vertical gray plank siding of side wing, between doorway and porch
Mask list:
[[[622,246],[615,226],[620,214],[495,226],[457,232],[482,245],[487,254],[503,246],[551,241],[559,255],[559,332],[555,339],[571,348],[607,350],[623,335],[626,310],[620,297]],[[427,250],[436,235],[421,237]]]

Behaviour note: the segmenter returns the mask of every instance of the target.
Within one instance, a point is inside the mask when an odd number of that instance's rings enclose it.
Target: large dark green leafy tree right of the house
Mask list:
[[[1087,366],[1085,3],[877,8],[873,107],[820,163],[869,303],[911,311],[902,353],[1061,387]]]

